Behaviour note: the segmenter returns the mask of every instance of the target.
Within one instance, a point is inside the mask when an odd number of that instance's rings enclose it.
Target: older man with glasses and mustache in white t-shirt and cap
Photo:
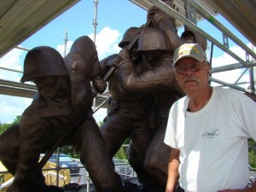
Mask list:
[[[173,67],[186,93],[172,105],[165,143],[172,147],[166,192],[177,178],[184,191],[256,191],[247,188],[247,138],[256,140],[256,104],[237,90],[210,86],[199,44],[176,49]]]

